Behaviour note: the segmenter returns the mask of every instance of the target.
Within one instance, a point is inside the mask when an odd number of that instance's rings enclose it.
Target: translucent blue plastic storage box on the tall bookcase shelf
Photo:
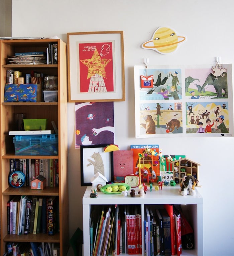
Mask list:
[[[13,137],[16,155],[57,155],[58,135],[17,135]]]

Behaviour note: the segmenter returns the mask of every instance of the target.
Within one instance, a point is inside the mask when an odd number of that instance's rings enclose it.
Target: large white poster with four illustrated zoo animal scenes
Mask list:
[[[231,64],[135,66],[134,82],[136,138],[233,137]]]

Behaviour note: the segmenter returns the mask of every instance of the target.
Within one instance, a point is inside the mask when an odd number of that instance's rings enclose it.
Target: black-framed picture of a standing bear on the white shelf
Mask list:
[[[91,179],[97,171],[106,177],[108,183],[114,181],[113,152],[104,152],[108,145],[81,145],[81,186],[92,186]]]

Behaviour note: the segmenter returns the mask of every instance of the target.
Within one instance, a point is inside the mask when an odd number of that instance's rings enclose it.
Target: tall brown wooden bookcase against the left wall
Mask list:
[[[48,43],[58,45],[58,64],[53,65],[12,65],[6,64],[6,58],[16,52],[44,51]],[[0,40],[1,57],[1,172],[0,172],[0,216],[1,216],[1,252],[5,252],[7,242],[51,242],[60,243],[60,255],[67,255],[69,249],[69,219],[68,219],[68,177],[67,177],[67,45],[60,39],[40,40]],[[4,102],[4,86],[6,82],[6,70],[21,71],[58,76],[58,101],[57,102]],[[58,155],[56,156],[20,156],[14,153],[13,131],[14,113],[24,113],[27,119],[47,118],[47,130],[53,130],[51,121],[58,128]],[[30,187],[12,188],[8,184],[9,159],[10,158],[57,158],[59,164],[59,186],[46,187],[44,190],[31,190]],[[59,198],[60,233],[54,236],[48,234],[8,235],[7,234],[7,201],[15,195],[51,196]]]

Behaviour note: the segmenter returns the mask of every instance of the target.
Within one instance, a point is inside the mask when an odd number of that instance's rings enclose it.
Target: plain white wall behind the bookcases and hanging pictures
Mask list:
[[[233,63],[232,0],[12,0],[12,36],[58,36],[68,32],[124,31],[126,101],[114,103],[115,143],[152,144],[135,139],[134,65]],[[186,35],[187,42],[169,55],[142,49],[160,26]],[[74,104],[68,104],[70,234],[82,228],[79,150],[75,149]],[[121,120],[121,121],[119,121]],[[66,121],[66,120],[65,120]],[[164,154],[185,154],[201,164],[199,189],[204,197],[204,255],[233,255],[233,138],[156,138]],[[225,192],[225,193],[224,193]]]

